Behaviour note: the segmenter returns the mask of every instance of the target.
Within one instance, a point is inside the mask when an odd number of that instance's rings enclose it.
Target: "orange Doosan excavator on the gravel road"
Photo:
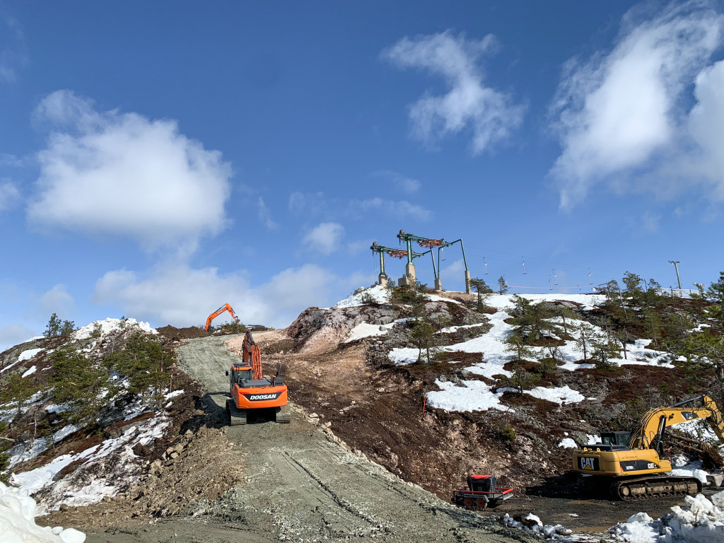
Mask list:
[[[248,415],[258,413],[288,424],[291,413],[287,408],[287,385],[277,374],[271,379],[261,375],[261,355],[249,330],[244,336],[241,361],[233,363],[229,377],[230,399],[227,400],[227,416],[232,426],[246,424]]]

